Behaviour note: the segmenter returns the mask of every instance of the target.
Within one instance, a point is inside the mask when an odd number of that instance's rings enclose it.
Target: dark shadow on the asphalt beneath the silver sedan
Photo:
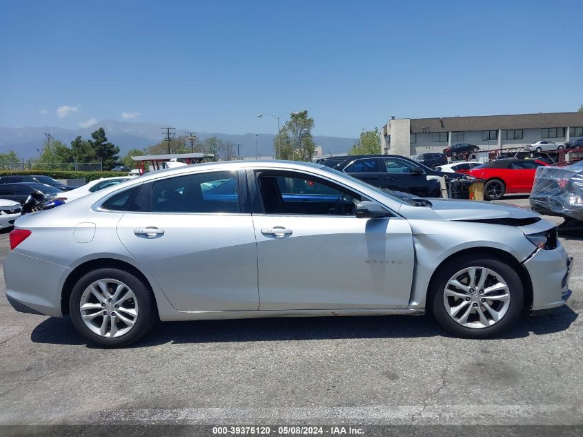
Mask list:
[[[524,338],[565,331],[577,319],[567,306],[536,317],[523,315],[502,338]],[[173,343],[255,342],[285,340],[344,340],[364,338],[423,338],[447,334],[429,316],[264,318],[159,322],[130,347]],[[34,328],[30,340],[48,344],[86,344],[68,318],[48,318]],[[99,347],[88,344],[88,347]]]

